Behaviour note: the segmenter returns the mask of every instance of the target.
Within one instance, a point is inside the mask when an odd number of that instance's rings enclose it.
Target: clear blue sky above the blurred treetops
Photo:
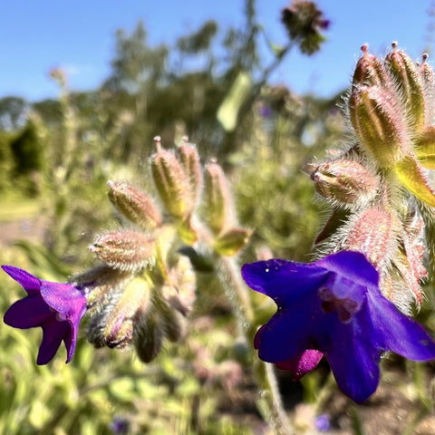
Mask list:
[[[318,0],[332,21],[321,53],[305,57],[290,53],[275,72],[295,92],[327,96],[347,86],[359,47],[369,43],[377,54],[399,41],[414,59],[433,43],[435,18],[428,14],[434,0]],[[285,43],[279,22],[287,0],[257,0],[259,21],[275,43]],[[406,7],[403,6],[405,4]],[[0,97],[20,95],[30,101],[55,97],[47,73],[56,66],[69,74],[70,87],[97,87],[110,73],[114,33],[131,31],[142,19],[151,45],[172,43],[205,20],[218,21],[221,30],[244,23],[242,0],[14,0],[0,6]],[[435,64],[435,51],[433,54]]]

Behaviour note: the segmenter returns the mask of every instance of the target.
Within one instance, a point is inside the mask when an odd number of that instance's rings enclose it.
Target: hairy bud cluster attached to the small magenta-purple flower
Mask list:
[[[187,331],[196,275],[186,252],[205,244],[210,254],[234,256],[249,230],[237,226],[227,179],[216,162],[201,168],[197,148],[182,140],[177,150],[150,159],[157,195],[130,183],[109,181],[109,198],[126,225],[95,238],[90,250],[101,264],[76,276],[88,312],[88,340],[95,347],[134,345],[150,362],[165,339]]]

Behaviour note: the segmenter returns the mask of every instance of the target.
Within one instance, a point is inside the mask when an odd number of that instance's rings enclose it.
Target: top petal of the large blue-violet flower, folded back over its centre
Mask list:
[[[378,286],[379,274],[361,252],[341,251],[325,256],[315,264],[345,277],[353,284],[376,288]]]

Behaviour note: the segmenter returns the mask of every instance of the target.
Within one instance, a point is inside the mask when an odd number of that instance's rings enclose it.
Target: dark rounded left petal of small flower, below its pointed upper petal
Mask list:
[[[27,329],[47,322],[54,313],[38,296],[27,296],[12,304],[4,316],[5,324],[14,328]]]

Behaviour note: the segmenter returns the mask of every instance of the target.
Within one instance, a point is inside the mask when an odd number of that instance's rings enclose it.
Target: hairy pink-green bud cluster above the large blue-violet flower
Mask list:
[[[383,60],[362,45],[346,107],[353,143],[309,169],[334,208],[317,242],[362,252],[383,295],[406,310],[421,302],[425,247],[434,245],[434,72],[427,54],[414,63],[391,45]]]

